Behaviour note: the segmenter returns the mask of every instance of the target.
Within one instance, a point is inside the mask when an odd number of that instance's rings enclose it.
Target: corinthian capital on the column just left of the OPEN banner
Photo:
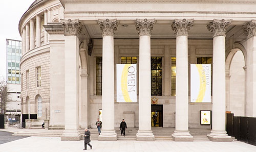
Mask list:
[[[116,19],[99,19],[98,20],[102,36],[114,36],[117,30]]]

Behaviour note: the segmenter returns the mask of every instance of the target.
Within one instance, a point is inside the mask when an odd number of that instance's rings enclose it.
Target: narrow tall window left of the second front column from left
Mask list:
[[[96,95],[102,95],[102,57],[96,57]]]

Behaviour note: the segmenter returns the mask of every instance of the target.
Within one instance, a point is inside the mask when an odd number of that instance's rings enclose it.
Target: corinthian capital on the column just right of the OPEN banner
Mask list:
[[[155,19],[136,19],[135,27],[138,31],[139,36],[151,36],[151,31],[156,23]]]

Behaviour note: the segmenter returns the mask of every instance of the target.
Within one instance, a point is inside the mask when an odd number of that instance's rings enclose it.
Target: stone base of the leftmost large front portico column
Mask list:
[[[82,134],[78,130],[64,130],[60,139],[61,141],[79,141],[81,137]]]

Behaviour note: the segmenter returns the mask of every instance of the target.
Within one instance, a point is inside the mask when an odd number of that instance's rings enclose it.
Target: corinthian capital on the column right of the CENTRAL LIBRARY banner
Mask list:
[[[207,29],[212,33],[212,37],[226,36],[227,27],[231,24],[232,19],[214,19],[209,22]]]

